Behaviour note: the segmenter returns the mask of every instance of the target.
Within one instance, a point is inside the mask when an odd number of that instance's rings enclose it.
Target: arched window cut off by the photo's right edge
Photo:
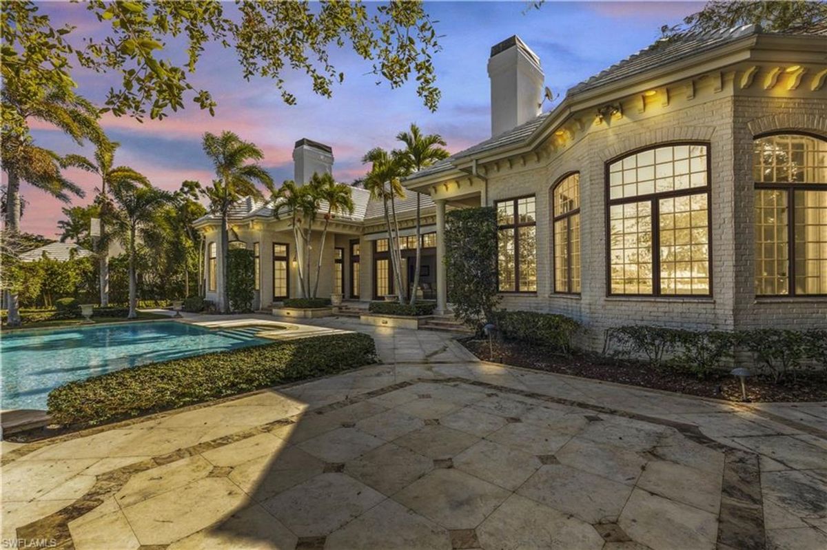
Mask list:
[[[827,294],[827,141],[759,137],[753,179],[755,294]]]

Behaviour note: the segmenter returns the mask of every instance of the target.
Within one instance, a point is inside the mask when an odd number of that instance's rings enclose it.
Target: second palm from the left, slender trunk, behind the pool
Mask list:
[[[96,202],[100,204],[100,236],[97,237],[98,248],[98,285],[100,286],[101,307],[109,305],[109,243],[116,236],[106,232],[107,218],[112,213],[106,208],[110,202],[107,200],[110,189],[116,185],[132,187],[148,187],[150,182],[146,177],[129,166],[115,166],[115,151],[121,144],[115,141],[100,141],[95,147],[94,160],[88,160],[82,155],[66,155],[66,161],[87,172],[92,172],[100,177],[101,185],[97,189],[98,197]]]

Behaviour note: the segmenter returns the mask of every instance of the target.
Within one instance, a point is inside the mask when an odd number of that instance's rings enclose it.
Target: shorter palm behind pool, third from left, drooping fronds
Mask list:
[[[121,242],[127,247],[129,255],[129,314],[127,318],[137,318],[137,285],[135,275],[136,238],[138,232],[151,226],[158,208],[167,203],[171,195],[154,187],[114,184],[110,189],[116,208],[112,208]],[[112,205],[110,205],[112,206]]]

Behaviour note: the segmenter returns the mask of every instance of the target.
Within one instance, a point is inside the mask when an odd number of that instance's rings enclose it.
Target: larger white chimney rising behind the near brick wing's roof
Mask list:
[[[543,112],[540,58],[514,35],[491,48],[491,136],[497,136]]]

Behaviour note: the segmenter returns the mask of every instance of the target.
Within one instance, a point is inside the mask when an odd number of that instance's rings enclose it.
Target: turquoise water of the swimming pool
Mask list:
[[[131,366],[271,342],[251,327],[208,329],[174,321],[4,333],[0,409],[46,409],[51,390]]]

